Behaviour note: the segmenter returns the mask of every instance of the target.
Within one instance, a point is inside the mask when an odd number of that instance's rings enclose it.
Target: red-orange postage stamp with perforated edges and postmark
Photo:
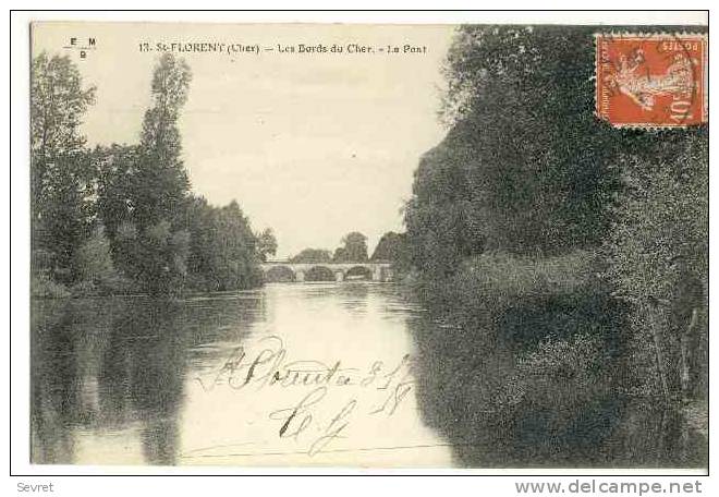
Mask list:
[[[703,35],[596,35],[596,112],[614,126],[707,122]]]

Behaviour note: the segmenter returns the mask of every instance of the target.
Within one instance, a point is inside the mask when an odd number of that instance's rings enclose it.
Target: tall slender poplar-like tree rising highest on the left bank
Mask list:
[[[190,81],[184,61],[170,53],[160,58],[153,75],[151,102],[145,112],[141,143],[132,153],[134,165],[125,199],[129,219],[124,222],[127,230],[136,229],[139,250],[125,253],[130,255],[130,272],[150,293],[181,291],[186,277],[190,234],[185,214],[191,199],[180,155],[178,119]]]

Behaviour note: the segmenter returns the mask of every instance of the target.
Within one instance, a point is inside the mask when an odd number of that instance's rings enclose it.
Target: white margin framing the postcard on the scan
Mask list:
[[[45,2],[47,7],[57,7],[56,3]],[[74,2],[75,4],[84,4],[85,8],[97,7],[96,4],[90,4],[90,2]],[[223,2],[230,3],[230,2]],[[290,2],[283,2],[290,3]],[[330,5],[329,2],[327,7]],[[373,8],[377,3],[379,8],[387,8],[387,2],[365,2],[362,8]],[[413,7],[421,7],[417,2],[413,2]],[[455,2],[449,2],[455,3]],[[448,2],[443,2],[442,8],[452,8]],[[468,3],[468,2],[462,2]],[[563,2],[568,3],[568,2]],[[611,3],[622,4],[622,2],[604,2],[601,7],[610,7]],[[649,2],[647,2],[649,3]],[[624,3],[625,4],[625,3]],[[148,2],[130,2],[130,5],[126,7],[148,7]],[[176,3],[174,5],[178,5]],[[204,3],[203,5],[206,5]],[[263,5],[267,5],[264,3]],[[660,7],[675,7],[675,3],[672,2],[650,2],[653,8]],[[684,4],[683,4],[684,5]],[[27,8],[28,5],[22,5]],[[187,5],[190,7],[190,5]],[[192,5],[194,7],[194,5]],[[231,7],[234,7],[232,4]],[[287,5],[285,5],[287,7]],[[290,5],[291,7],[291,5]],[[555,5],[547,5],[555,7]],[[648,5],[647,5],[648,7]],[[28,391],[29,391],[29,340],[28,334],[25,331],[29,327],[29,284],[28,284],[28,269],[29,269],[29,250],[28,250],[28,240],[29,240],[29,211],[28,211],[28,184],[29,177],[28,170],[25,165],[28,163],[28,78],[27,78],[27,61],[29,60],[29,50],[28,50],[28,31],[27,23],[29,21],[41,21],[41,20],[87,20],[87,21],[123,21],[123,22],[137,22],[137,21],[153,21],[153,22],[272,22],[272,23],[284,23],[284,22],[349,22],[349,23],[393,23],[393,24],[456,24],[456,23],[511,23],[511,24],[596,24],[596,25],[607,25],[607,24],[672,24],[672,25],[691,25],[691,24],[702,24],[703,21],[708,21],[708,14],[703,12],[691,12],[691,13],[679,13],[679,12],[232,12],[232,13],[221,13],[221,12],[15,12],[12,14],[10,23],[10,39],[12,41],[12,66],[11,66],[11,88],[5,88],[5,90],[11,89],[11,99],[10,99],[10,109],[12,111],[12,122],[9,123],[5,121],[3,126],[9,126],[10,130],[5,129],[2,133],[2,140],[5,141],[8,135],[11,136],[12,144],[12,156],[9,156],[9,153],[4,155],[5,171],[10,171],[10,182],[7,183],[5,192],[10,197],[11,206],[11,216],[3,216],[2,222],[12,223],[12,232],[10,231],[10,226],[4,227],[4,233],[12,234],[11,243],[2,244],[2,257],[4,260],[9,262],[8,266],[3,265],[3,279],[4,276],[9,275],[9,269],[11,269],[12,277],[8,278],[7,281],[10,284],[3,284],[2,287],[2,311],[3,311],[3,323],[9,323],[9,311],[12,307],[12,329],[8,325],[3,327],[7,334],[12,334],[12,350],[8,349],[7,341],[2,341],[3,349],[7,350],[7,360],[8,367],[4,368],[3,375],[3,385],[8,385],[8,369],[11,367],[13,372],[12,376],[12,410],[13,410],[13,424],[11,426],[12,433],[12,450],[8,450],[10,440],[7,440],[5,450],[2,453],[2,463],[10,465],[8,460],[10,453],[12,453],[12,472],[14,474],[34,474],[34,475],[44,475],[44,474],[64,474],[64,475],[77,475],[77,474],[97,474],[97,475],[108,475],[108,474],[147,474],[147,475],[219,475],[219,474],[266,474],[266,475],[277,475],[277,474],[295,474],[295,475],[306,475],[306,474],[382,474],[382,475],[392,475],[392,474],[410,474],[410,475],[419,475],[419,474],[437,474],[437,475],[467,475],[467,474],[492,474],[497,475],[501,473],[505,476],[511,476],[515,474],[522,475],[547,475],[547,474],[564,474],[568,475],[564,478],[553,478],[553,480],[566,480],[572,481],[570,477],[572,474],[582,474],[582,475],[611,475],[611,474],[633,474],[637,476],[646,476],[649,474],[687,474],[686,471],[682,470],[504,470],[504,471],[483,471],[483,470],[360,470],[360,469],[313,469],[313,468],[302,468],[302,469],[241,469],[241,468],[153,468],[153,466],[39,466],[39,465],[29,465],[23,463],[23,461],[28,461],[28,429],[27,429],[27,420],[28,420]],[[8,39],[8,38],[5,38]],[[10,47],[5,50],[5,53],[10,50]],[[4,56],[7,57],[7,56]],[[8,62],[3,64],[8,66]],[[715,78],[715,81],[717,81]],[[3,84],[9,84],[8,78],[3,78]],[[709,89],[711,92],[712,88]],[[10,116],[10,112],[4,113],[5,117]],[[10,133],[8,133],[10,131]],[[714,141],[712,141],[714,143]],[[5,148],[5,150],[8,150]],[[7,178],[7,177],[4,177]],[[710,187],[714,190],[715,181],[711,180]],[[711,228],[714,226],[711,225]],[[714,230],[711,230],[714,231]],[[12,259],[10,259],[10,253],[8,250],[12,247]],[[714,256],[714,251],[711,252]],[[711,280],[710,290],[714,290],[714,280]],[[711,323],[711,322],[710,322]],[[714,328],[714,326],[711,326]],[[711,331],[710,331],[711,332]],[[714,335],[714,334],[712,334]],[[711,348],[712,355],[716,352],[717,340]],[[11,359],[12,357],[12,359]],[[715,375],[712,375],[715,376]],[[716,383],[715,383],[716,385]],[[7,388],[7,387],[5,387]],[[7,393],[3,396],[7,398]],[[4,426],[10,426],[10,420],[8,419],[8,409],[7,407],[2,409],[0,417],[4,422]],[[710,410],[710,414],[714,410]],[[711,421],[715,421],[715,415],[711,415]],[[716,424],[715,424],[716,426]],[[3,431],[7,434],[7,431]],[[3,434],[3,437],[7,435]],[[10,452],[10,453],[9,453]],[[712,451],[714,452],[714,451]],[[695,474],[695,472],[692,472]],[[84,483],[82,478],[25,478],[40,482],[42,480],[49,481],[60,481],[62,483],[63,493],[58,495],[90,495],[89,492],[82,492],[82,488],[86,488],[87,484]],[[95,480],[95,478],[93,478]],[[208,484],[204,483],[202,478],[122,478],[119,482],[121,484],[115,485],[115,478],[100,478],[101,485],[96,484],[92,485],[95,488],[102,488],[103,494],[110,495],[127,495],[129,492],[138,492],[138,495],[153,495],[154,492],[167,493],[168,488],[174,488],[174,492],[181,492],[182,495],[191,495],[192,493],[206,493]],[[222,478],[222,482],[226,478]],[[314,480],[314,478],[313,478]],[[333,480],[333,478],[330,478]],[[374,478],[370,478],[374,480]],[[344,482],[340,483],[343,486],[351,487],[343,489],[343,494],[348,495],[366,495],[367,492],[377,492],[382,495],[388,494],[389,492],[407,492],[406,485],[401,484],[400,480],[388,481],[387,478],[375,480],[376,483],[365,484],[362,487],[355,487],[354,482]],[[459,481],[465,478],[458,478]],[[471,478],[474,480],[474,478]],[[514,478],[527,481],[529,478]],[[546,478],[545,478],[546,480]],[[643,480],[647,480],[644,477]],[[678,478],[678,481],[690,481],[690,478]],[[693,478],[692,478],[693,480]],[[712,478],[714,480],[714,478]],[[12,485],[10,488],[11,492],[15,492],[14,482],[17,478],[14,478],[8,485]],[[306,485],[302,478],[287,478],[285,482],[279,484],[284,492],[292,493],[297,495],[300,487],[305,487]],[[493,482],[493,483],[492,483]],[[709,480],[706,481],[707,484],[710,483]],[[329,484],[329,483],[328,483]],[[444,478],[422,478],[416,484],[415,492],[425,492],[427,493],[447,493],[449,483]],[[98,486],[100,485],[100,486]],[[232,489],[236,492],[247,492],[242,489],[245,484],[233,483],[232,478],[223,483],[226,492],[231,492]],[[317,490],[324,487],[326,484],[317,484]],[[450,485],[455,485],[451,483]],[[464,485],[463,483],[458,483],[458,485]],[[497,478],[484,480],[479,486],[478,482],[471,484],[471,487],[474,488],[474,492],[488,493],[488,495],[514,495],[513,486],[510,488],[508,482],[501,484]],[[489,485],[489,486],[488,486]],[[714,486],[714,485],[711,485]],[[705,493],[710,488],[710,486],[705,485]],[[294,489],[294,492],[292,492]],[[362,492],[358,492],[361,490]],[[120,490],[120,492],[119,492]],[[259,489],[255,489],[259,492]],[[275,487],[272,494],[280,493],[280,487]],[[337,492],[337,490],[336,490]],[[321,492],[319,492],[321,493]]]

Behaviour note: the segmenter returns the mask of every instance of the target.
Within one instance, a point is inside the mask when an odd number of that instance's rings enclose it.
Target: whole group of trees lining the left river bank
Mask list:
[[[183,61],[162,56],[139,143],[88,149],[80,126],[95,88],[68,57],[33,60],[34,295],[261,284],[258,263],[277,250],[272,232],[253,233],[236,202],[215,207],[190,191],[178,129],[190,82]]]

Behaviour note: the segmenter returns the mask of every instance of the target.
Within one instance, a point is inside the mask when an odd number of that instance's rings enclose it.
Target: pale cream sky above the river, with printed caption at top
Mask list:
[[[254,230],[272,228],[278,258],[334,250],[350,231],[367,235],[371,254],[382,233],[403,230],[419,157],[446,134],[440,69],[453,29],[41,23],[33,26],[33,51],[70,56],[97,87],[83,132],[89,145],[109,145],[138,142],[157,44],[259,46],[259,54],[175,52],[193,72],[179,122],[192,190],[214,205],[236,199]],[[95,46],[81,58],[90,37]],[[143,43],[155,50],[141,51]],[[300,44],[337,44],[343,52],[279,51]],[[349,44],[375,51],[348,53]],[[388,45],[400,53],[387,53]],[[421,53],[404,53],[404,45]]]

